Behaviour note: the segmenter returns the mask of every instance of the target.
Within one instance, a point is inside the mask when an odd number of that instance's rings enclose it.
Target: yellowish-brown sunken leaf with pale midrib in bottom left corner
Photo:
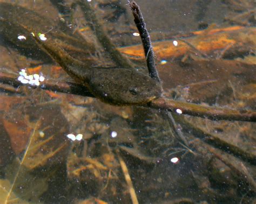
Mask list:
[[[47,178],[40,177],[38,167],[56,160],[56,154],[68,143],[57,143],[55,137],[40,134],[43,123],[28,121],[31,135],[22,155],[5,167],[5,179],[0,180],[0,203],[39,202],[48,189]]]

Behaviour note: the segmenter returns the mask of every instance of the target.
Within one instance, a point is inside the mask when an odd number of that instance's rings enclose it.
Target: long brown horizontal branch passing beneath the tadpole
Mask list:
[[[23,83],[17,80],[16,74],[0,73],[0,82],[15,88],[24,86]],[[49,79],[41,82],[39,87],[41,89],[52,90],[54,92],[95,97],[85,86],[73,82],[63,82]],[[180,109],[185,115],[203,117],[212,120],[225,119],[228,121],[256,122],[256,111],[254,110],[236,110],[230,108],[211,107],[183,101],[174,101],[171,99],[165,99],[164,97],[160,97],[159,99],[156,99],[144,106],[176,113],[177,109]]]

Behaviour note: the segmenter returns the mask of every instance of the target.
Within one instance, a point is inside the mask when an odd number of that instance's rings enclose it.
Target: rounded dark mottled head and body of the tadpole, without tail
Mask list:
[[[89,87],[96,97],[113,105],[145,104],[161,96],[160,83],[135,69],[95,68]]]

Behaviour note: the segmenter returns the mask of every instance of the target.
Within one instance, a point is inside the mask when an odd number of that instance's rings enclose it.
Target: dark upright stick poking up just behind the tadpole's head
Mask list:
[[[140,38],[142,39],[142,44],[145,52],[145,57],[147,61],[147,68],[149,69],[149,75],[151,78],[156,79],[160,82],[157,69],[154,62],[154,52],[153,47],[151,45],[150,35],[147,32],[146,24],[144,18],[142,16],[142,12],[139,9],[139,6],[136,2],[129,3],[130,9],[132,11],[134,17],[134,23],[137,26],[137,29],[140,34]]]

